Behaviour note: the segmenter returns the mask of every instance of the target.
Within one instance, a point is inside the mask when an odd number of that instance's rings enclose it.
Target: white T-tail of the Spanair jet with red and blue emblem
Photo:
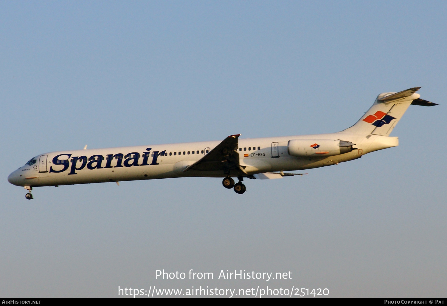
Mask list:
[[[352,127],[342,132],[352,134],[373,134],[389,136],[410,104],[438,105],[420,99],[416,93],[421,87],[414,87],[398,93],[380,93],[371,108]]]

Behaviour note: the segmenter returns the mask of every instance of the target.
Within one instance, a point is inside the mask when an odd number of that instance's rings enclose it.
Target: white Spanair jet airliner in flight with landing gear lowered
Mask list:
[[[410,105],[434,106],[414,87],[398,93],[380,93],[371,108],[341,132],[317,135],[240,139],[178,144],[148,144],[108,149],[43,153],[9,174],[8,181],[23,186],[28,200],[33,187],[132,181],[156,178],[223,178],[223,187],[246,191],[244,178],[273,179],[306,170],[337,165],[373,151],[395,147],[390,133]],[[233,178],[238,179],[235,183]]]

